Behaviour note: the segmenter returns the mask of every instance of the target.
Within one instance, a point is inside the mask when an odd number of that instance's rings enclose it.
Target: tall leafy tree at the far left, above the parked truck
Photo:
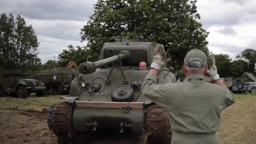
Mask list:
[[[1,13],[0,16],[0,67],[27,70],[40,65],[37,56],[39,42],[32,26],[27,26],[20,15],[14,18]]]

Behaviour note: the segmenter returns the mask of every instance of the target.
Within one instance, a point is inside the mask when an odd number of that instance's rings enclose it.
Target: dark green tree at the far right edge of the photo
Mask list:
[[[254,49],[245,49],[241,52],[240,55],[236,56],[238,59],[244,60],[248,69],[247,72],[256,73],[255,65],[256,65],[256,50]]]

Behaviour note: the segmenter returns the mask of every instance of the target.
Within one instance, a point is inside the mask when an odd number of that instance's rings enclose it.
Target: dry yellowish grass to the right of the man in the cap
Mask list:
[[[256,91],[252,94],[236,94],[235,104],[223,111],[220,130],[217,132],[220,143],[256,143]]]

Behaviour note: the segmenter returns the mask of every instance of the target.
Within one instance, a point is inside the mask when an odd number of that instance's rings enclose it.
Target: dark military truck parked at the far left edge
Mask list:
[[[37,97],[44,95],[44,85],[36,79],[28,79],[20,70],[0,70],[0,96],[4,94],[27,98],[31,92]]]

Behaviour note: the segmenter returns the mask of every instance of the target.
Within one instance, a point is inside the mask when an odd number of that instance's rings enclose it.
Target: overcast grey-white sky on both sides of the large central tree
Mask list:
[[[40,42],[41,62],[58,56],[69,44],[81,43],[80,29],[87,24],[97,0],[0,0],[0,12],[20,14],[31,24]],[[197,0],[200,23],[210,32],[210,52],[233,60],[244,49],[256,49],[255,0]]]

